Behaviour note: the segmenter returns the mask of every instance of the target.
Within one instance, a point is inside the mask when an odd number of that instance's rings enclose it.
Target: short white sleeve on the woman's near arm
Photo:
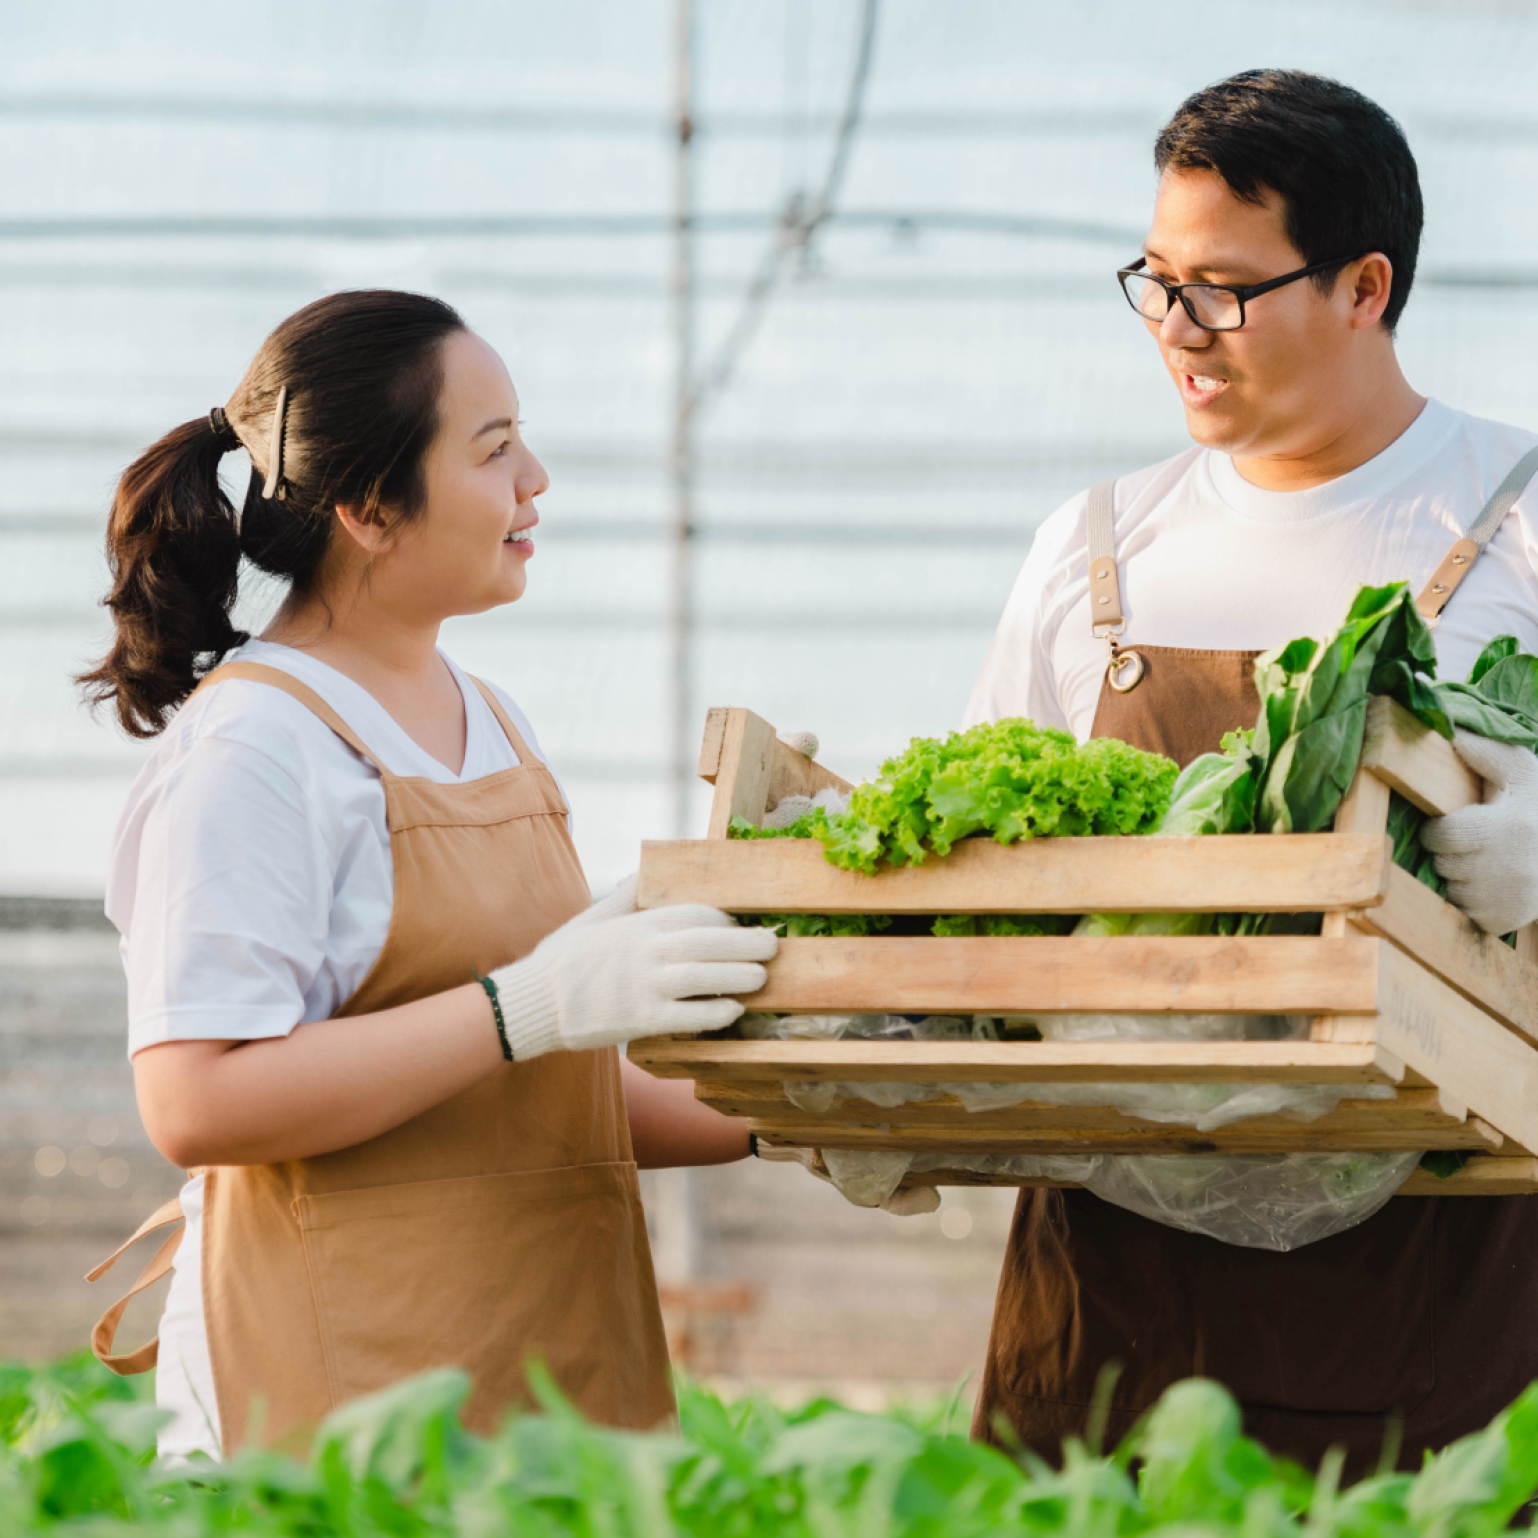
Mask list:
[[[283,1037],[305,1018],[338,852],[281,763],[251,743],[197,738],[140,795],[115,854],[132,860],[129,1055]]]

